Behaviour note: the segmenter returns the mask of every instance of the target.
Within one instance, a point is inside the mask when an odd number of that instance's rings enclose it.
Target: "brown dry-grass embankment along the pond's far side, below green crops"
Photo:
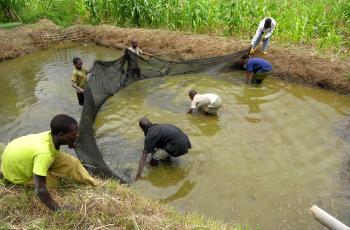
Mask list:
[[[192,35],[150,29],[125,29],[112,26],[78,25],[63,29],[50,21],[12,30],[0,30],[0,61],[45,49],[61,41],[94,42],[123,49],[137,38],[144,51],[175,59],[194,59],[223,55],[246,49],[249,42],[229,38]],[[274,67],[274,76],[283,80],[350,93],[350,61],[328,60],[303,47],[282,48],[270,45],[264,57]]]

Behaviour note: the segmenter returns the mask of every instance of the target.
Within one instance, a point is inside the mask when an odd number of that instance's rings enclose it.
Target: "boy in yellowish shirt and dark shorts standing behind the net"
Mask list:
[[[74,70],[72,73],[72,86],[77,91],[79,105],[84,105],[84,90],[87,86],[87,75],[89,70],[83,67],[81,58],[73,58]]]

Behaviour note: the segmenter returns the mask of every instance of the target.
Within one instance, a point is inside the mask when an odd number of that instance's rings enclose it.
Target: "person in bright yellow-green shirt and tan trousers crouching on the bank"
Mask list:
[[[61,145],[74,148],[78,137],[77,121],[65,114],[56,115],[50,123],[51,132],[29,134],[12,140],[2,155],[1,170],[6,183],[33,186],[39,199],[51,210],[60,207],[47,187],[57,187],[56,176],[67,176],[96,185],[80,161],[60,151]]]

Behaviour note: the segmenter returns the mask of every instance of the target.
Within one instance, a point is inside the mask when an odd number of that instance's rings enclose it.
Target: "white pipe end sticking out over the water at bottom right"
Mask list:
[[[310,208],[312,215],[315,219],[331,230],[350,230],[348,226],[329,215],[326,211],[320,209],[317,205],[313,205]]]

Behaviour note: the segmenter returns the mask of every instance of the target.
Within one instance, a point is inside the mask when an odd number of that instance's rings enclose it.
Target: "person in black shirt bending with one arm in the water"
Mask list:
[[[152,124],[143,117],[139,120],[139,126],[145,133],[145,146],[135,180],[141,177],[148,153],[152,154],[150,164],[157,165],[159,160],[182,156],[191,148],[188,136],[174,125]]]

